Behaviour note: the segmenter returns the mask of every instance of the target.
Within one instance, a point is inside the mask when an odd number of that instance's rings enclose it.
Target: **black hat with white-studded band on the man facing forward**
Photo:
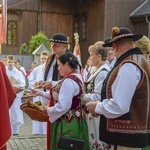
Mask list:
[[[67,40],[67,36],[64,35],[63,33],[56,33],[52,36],[50,39],[51,42],[56,42],[56,43],[63,43],[63,44],[71,44]]]

